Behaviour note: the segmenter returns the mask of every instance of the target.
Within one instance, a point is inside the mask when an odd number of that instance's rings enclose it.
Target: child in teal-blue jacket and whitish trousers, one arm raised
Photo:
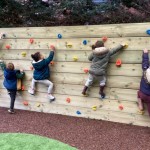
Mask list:
[[[48,86],[48,95],[50,102],[55,100],[55,97],[52,95],[53,83],[48,80],[50,77],[50,68],[49,63],[53,60],[55,47],[51,46],[51,51],[48,58],[44,59],[44,56],[40,52],[32,54],[33,59],[32,65],[34,68],[33,79],[31,83],[31,88],[28,92],[32,95],[35,93],[35,83],[43,83]]]

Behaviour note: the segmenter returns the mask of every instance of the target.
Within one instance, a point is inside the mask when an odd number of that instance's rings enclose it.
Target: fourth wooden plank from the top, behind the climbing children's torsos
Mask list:
[[[5,60],[5,63],[9,63],[10,60]],[[31,70],[31,61],[13,60],[11,61],[15,65],[16,69],[23,69],[25,71]],[[51,71],[55,73],[76,73],[84,74],[84,68],[88,68],[91,62],[54,62],[54,65],[50,65]],[[27,72],[28,73],[28,72]],[[121,67],[116,67],[115,63],[109,63],[107,69],[107,75],[119,75],[119,76],[142,76],[141,64],[122,64]]]

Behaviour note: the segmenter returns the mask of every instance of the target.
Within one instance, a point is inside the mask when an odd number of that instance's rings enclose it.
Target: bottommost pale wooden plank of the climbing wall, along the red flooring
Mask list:
[[[1,107],[8,107],[9,102],[4,101],[0,103]],[[46,112],[46,113],[54,113],[54,114],[62,114],[62,115],[69,115],[69,116],[76,116],[76,117],[84,117],[90,119],[102,119],[108,120],[113,122],[120,122],[120,123],[127,123],[132,125],[142,125],[148,126],[149,124],[149,116],[142,116],[143,120],[140,120],[139,115],[129,114],[129,113],[121,113],[115,111],[106,111],[106,110],[97,110],[93,111],[88,108],[81,108],[81,107],[73,107],[73,106],[64,106],[64,105],[55,105],[55,104],[44,104],[41,108],[36,107],[35,102],[30,102],[29,106],[22,105],[21,102],[16,103],[16,108],[30,110],[30,111],[39,111],[39,112]],[[80,111],[81,114],[78,115],[76,111]],[[139,117],[139,118],[138,118]],[[138,119],[139,120],[138,120]]]

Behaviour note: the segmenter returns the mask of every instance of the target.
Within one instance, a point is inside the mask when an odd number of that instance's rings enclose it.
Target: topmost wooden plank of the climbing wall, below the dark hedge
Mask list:
[[[81,37],[145,37],[149,23],[132,24],[105,24],[85,26],[61,26],[61,27],[21,27],[0,28],[0,32],[7,33],[7,38],[57,38],[62,34],[63,38]]]

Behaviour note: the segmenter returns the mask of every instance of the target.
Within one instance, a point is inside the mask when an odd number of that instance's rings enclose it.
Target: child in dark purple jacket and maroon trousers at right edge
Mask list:
[[[138,107],[139,110],[142,112],[144,111],[143,103],[146,103],[150,115],[150,65],[149,65],[149,56],[148,56],[147,49],[143,50],[142,69],[143,69],[143,75],[141,78],[140,90],[137,93]]]

